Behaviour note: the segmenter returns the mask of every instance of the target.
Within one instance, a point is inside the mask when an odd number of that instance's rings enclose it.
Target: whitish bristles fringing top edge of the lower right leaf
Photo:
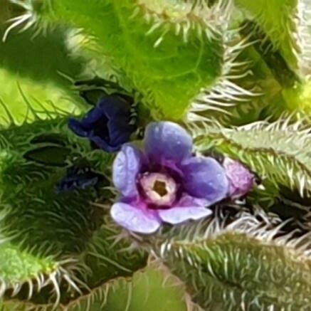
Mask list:
[[[219,213],[216,208],[216,214]],[[200,244],[212,241],[226,233],[245,234],[249,238],[255,238],[263,245],[280,246],[295,251],[297,258],[310,259],[311,235],[295,236],[295,231],[286,231],[285,226],[289,222],[282,221],[277,215],[266,213],[260,206],[253,206],[253,213],[238,212],[233,221],[215,216],[211,220],[203,220],[188,223],[172,228],[162,236],[154,238],[153,251],[160,258],[166,258],[176,247],[182,245]],[[176,250],[177,253],[179,252]],[[180,251],[182,253],[182,251]],[[180,254],[181,254],[180,253]]]

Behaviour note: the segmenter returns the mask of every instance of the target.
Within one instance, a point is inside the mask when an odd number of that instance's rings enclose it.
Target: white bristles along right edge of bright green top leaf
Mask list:
[[[201,90],[193,100],[185,118],[186,125],[209,125],[214,122],[213,112],[218,112],[218,122],[226,123],[231,117],[238,115],[236,108],[261,95],[258,89],[246,89],[236,82],[252,74],[249,68],[250,60],[241,62],[237,58],[248,46],[253,45],[253,41],[250,41],[250,36],[242,39],[238,32],[238,29],[229,28],[228,21],[223,23],[224,54],[221,74],[214,85]]]

